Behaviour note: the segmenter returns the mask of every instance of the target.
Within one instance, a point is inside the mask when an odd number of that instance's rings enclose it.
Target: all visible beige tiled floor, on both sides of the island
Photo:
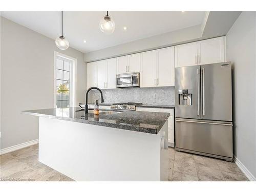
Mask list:
[[[169,181],[248,181],[233,162],[176,152],[169,153]],[[0,156],[1,181],[73,181],[38,162],[38,145]]]

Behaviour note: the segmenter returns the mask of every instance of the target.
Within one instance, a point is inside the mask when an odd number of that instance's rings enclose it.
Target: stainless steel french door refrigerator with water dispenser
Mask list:
[[[231,62],[175,69],[176,150],[232,161]]]

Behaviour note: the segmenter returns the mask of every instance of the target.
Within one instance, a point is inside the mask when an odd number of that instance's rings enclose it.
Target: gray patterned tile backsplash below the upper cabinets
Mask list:
[[[100,93],[91,91],[91,102],[100,102]],[[175,104],[174,87],[131,88],[102,90],[105,103],[140,102],[143,104]]]

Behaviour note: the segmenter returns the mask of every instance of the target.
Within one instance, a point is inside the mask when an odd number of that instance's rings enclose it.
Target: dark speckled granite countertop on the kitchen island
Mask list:
[[[158,134],[169,117],[169,113],[139,111],[121,111],[111,115],[89,113],[84,117],[84,111],[80,108],[29,110],[22,113],[150,134]]]

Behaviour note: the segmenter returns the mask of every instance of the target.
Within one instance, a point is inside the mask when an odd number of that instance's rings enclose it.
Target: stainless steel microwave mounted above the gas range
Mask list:
[[[116,75],[117,88],[140,87],[140,73],[125,73]]]

